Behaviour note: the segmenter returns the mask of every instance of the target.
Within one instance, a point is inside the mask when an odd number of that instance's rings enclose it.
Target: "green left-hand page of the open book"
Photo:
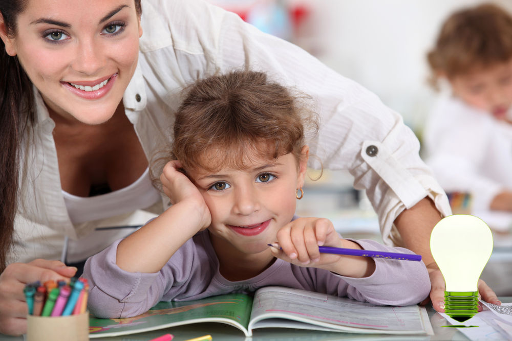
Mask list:
[[[196,301],[159,302],[143,314],[127,319],[89,319],[89,337],[140,333],[199,322],[221,322],[247,334],[252,297],[232,293]]]

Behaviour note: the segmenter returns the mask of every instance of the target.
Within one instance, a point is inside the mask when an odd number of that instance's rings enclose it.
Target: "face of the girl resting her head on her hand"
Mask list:
[[[190,173],[211,213],[212,243],[233,257],[268,251],[267,244],[275,242],[278,230],[293,218],[308,153],[305,146],[297,162],[291,153],[268,160],[252,152],[252,164],[244,170]]]

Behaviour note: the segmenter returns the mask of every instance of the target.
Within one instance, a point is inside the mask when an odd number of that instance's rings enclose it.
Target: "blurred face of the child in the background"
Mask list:
[[[450,83],[467,104],[505,119],[512,105],[512,60],[453,77]]]

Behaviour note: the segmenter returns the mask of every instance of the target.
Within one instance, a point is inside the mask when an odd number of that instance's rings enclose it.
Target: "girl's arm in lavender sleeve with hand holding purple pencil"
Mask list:
[[[330,276],[326,277],[328,291],[334,289],[340,295],[378,305],[417,304],[429,294],[429,274],[423,262],[319,253],[318,244],[412,253],[406,248],[385,246],[371,240],[342,239],[327,219],[298,218],[278,232],[278,242],[283,251],[272,248],[275,257],[298,266],[330,271]],[[317,285],[321,283],[319,280]]]

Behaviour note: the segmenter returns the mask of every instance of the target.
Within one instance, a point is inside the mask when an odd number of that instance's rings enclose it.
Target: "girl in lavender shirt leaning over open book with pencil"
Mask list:
[[[428,296],[423,262],[320,254],[318,245],[408,249],[343,239],[327,219],[294,217],[308,162],[305,134],[317,129],[301,103],[260,72],[212,76],[188,89],[160,177],[173,206],[87,261],[94,315],[129,317],[159,301],[269,285],[378,305]],[[282,250],[268,246],[276,241]]]

